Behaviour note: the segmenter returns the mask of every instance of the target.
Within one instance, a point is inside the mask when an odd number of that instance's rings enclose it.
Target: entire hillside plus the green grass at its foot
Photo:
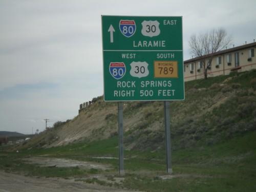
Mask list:
[[[20,145],[22,153],[0,148],[0,169],[101,185],[114,182],[116,187],[142,191],[255,191],[256,70],[189,81],[185,90],[184,101],[170,104],[171,176],[165,174],[163,102],[124,102],[125,176],[117,174],[117,159],[93,158],[118,157],[117,103],[102,97],[74,119]],[[112,168],[53,170],[17,160],[39,155]]]

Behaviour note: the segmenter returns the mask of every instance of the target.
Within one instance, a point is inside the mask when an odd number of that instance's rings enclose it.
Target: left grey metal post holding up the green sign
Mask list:
[[[119,174],[124,175],[123,155],[123,103],[118,102],[118,145],[119,145]]]

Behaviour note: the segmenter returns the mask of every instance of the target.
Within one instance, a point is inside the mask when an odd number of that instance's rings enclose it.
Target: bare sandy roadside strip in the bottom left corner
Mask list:
[[[133,191],[129,189],[119,189],[97,184],[89,184],[73,179],[57,178],[35,178],[23,175],[5,173],[0,170],[0,192],[66,192],[66,191],[92,191],[92,192],[110,192]],[[135,192],[135,191],[134,191]]]

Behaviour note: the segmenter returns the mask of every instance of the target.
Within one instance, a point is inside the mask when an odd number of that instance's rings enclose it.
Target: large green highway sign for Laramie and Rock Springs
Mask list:
[[[105,101],[183,100],[182,17],[101,16]]]

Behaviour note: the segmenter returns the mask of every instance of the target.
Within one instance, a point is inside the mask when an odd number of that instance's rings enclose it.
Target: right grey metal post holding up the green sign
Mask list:
[[[164,101],[164,120],[165,120],[165,149],[166,149],[166,172],[173,172],[172,159],[170,153],[170,101]]]

